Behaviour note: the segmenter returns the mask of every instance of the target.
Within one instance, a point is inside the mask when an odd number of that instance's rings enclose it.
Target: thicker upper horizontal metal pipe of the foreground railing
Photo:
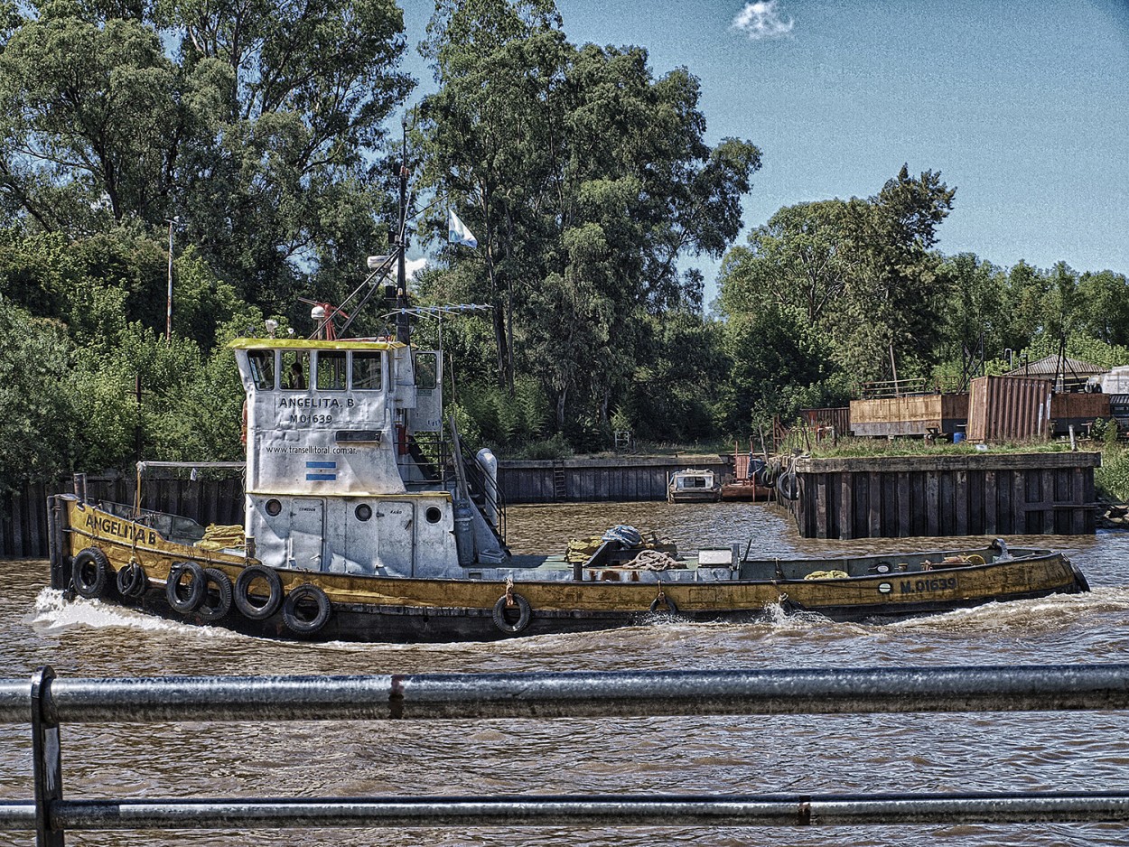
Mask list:
[[[28,698],[0,680],[0,722]],[[53,679],[45,702],[61,723],[1097,710],[1129,708],[1129,664]]]

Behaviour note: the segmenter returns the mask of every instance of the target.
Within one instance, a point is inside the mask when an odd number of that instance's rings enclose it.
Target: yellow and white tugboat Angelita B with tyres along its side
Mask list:
[[[49,498],[54,588],[254,636],[358,641],[567,634],[655,614],[747,620],[776,604],[904,617],[1087,591],[1065,556],[1003,542],[786,561],[751,558],[752,541],[680,557],[613,527],[581,561],[511,555],[497,462],[471,455],[444,420],[441,357],[410,343],[403,204],[400,224],[357,306],[396,264],[395,338],[341,338],[350,322],[338,329],[343,313],[317,304],[310,339],[233,342],[244,524],[207,538],[191,519],[142,510],[140,496],[98,503],[79,484]]]

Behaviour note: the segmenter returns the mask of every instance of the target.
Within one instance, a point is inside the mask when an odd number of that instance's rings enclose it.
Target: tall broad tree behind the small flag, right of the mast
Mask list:
[[[455,272],[493,306],[499,384],[528,369],[559,429],[606,427],[646,316],[700,308],[677,261],[736,236],[760,154],[704,143],[685,69],[655,79],[646,51],[577,47],[560,26],[551,2],[440,2],[419,138],[425,183],[479,235]]]

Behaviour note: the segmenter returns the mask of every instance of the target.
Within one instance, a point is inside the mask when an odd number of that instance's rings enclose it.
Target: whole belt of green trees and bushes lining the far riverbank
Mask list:
[[[393,0],[5,7],[0,487],[239,456],[227,342],[268,317],[308,334],[299,297],[342,303],[388,250],[406,50]],[[936,171],[894,164],[738,243],[755,140],[708,143],[692,68],[575,44],[551,0],[439,0],[420,50],[412,295],[489,312],[417,339],[504,456],[747,443],[895,368],[966,382],[1006,350],[1129,363],[1123,273],[946,255],[960,194]],[[446,244],[448,208],[476,247]]]

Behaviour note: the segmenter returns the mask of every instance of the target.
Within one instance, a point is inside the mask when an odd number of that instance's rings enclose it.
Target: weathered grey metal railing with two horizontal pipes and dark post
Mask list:
[[[1129,821],[1129,791],[855,794],[73,798],[62,727],[75,724],[449,721],[1129,709],[1129,664],[370,676],[0,680],[0,723],[30,724],[34,798],[0,800],[0,830],[327,827],[762,827]],[[1117,726],[1117,722],[1111,726]],[[761,730],[747,724],[750,749]],[[520,724],[514,732],[520,732]],[[672,742],[688,743],[672,726]],[[676,737],[674,737],[676,736]],[[8,736],[11,737],[11,736]],[[199,746],[184,768],[201,767]],[[235,748],[233,748],[233,753]],[[219,756],[219,753],[205,753]],[[441,767],[436,762],[437,769]],[[167,772],[168,763],[161,762]],[[789,778],[794,775],[789,775]],[[448,776],[436,775],[439,780]],[[627,776],[624,777],[627,780]],[[69,784],[69,780],[67,780]],[[959,781],[955,779],[953,781]]]

